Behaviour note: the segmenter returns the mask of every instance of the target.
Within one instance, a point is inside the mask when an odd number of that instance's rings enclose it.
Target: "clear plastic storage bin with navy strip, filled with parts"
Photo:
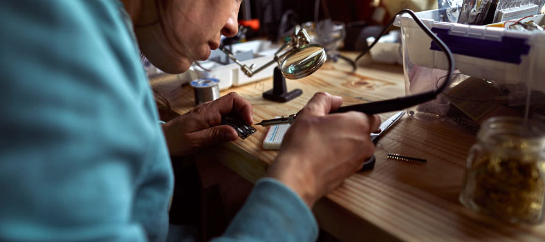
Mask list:
[[[535,104],[539,106],[545,100],[545,32],[448,23],[442,21],[438,10],[417,12],[416,15],[454,54],[456,71],[451,91],[461,83],[465,86],[457,89],[463,90],[463,95],[456,96],[446,91],[432,102],[409,108],[409,115],[454,117],[451,120],[476,130],[479,123],[490,116],[524,115],[527,102],[533,104],[531,114]],[[545,20],[543,16],[537,18],[542,23]],[[409,15],[396,17],[394,25],[401,28],[406,94],[436,89],[445,80],[445,54]],[[470,77],[473,78],[471,82],[465,82]],[[488,97],[479,96],[478,92]],[[497,107],[489,106],[481,111],[468,111],[471,102],[474,106],[502,102],[503,109],[490,113],[488,109]],[[459,110],[453,113],[454,103]]]

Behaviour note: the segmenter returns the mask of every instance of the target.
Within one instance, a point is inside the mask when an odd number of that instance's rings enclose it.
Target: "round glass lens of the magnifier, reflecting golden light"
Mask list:
[[[281,64],[280,70],[288,79],[299,79],[311,75],[326,62],[322,46],[309,44],[290,53]]]

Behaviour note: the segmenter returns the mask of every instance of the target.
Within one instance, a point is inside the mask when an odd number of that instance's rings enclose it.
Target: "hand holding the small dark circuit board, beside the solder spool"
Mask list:
[[[228,125],[221,125],[221,115],[232,111],[252,124],[252,104],[237,93],[205,102],[163,124],[170,155],[186,156],[203,146],[237,140],[237,131]]]

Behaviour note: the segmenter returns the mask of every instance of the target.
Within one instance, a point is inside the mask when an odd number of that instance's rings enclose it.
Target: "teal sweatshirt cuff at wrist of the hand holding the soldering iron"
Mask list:
[[[273,178],[257,181],[225,233],[214,242],[315,241],[318,226],[301,198]]]

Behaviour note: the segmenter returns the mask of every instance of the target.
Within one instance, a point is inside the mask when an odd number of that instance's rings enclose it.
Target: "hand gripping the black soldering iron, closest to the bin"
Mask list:
[[[342,184],[371,157],[369,133],[380,118],[360,112],[335,113],[342,98],[316,93],[284,136],[267,176],[293,189],[308,207]]]

